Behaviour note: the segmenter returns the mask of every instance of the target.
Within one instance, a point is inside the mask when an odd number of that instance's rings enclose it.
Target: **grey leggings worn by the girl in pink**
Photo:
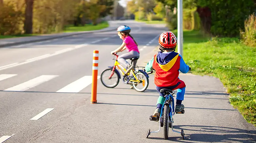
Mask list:
[[[118,62],[126,68],[130,63],[126,61],[126,59],[131,59],[133,57],[140,57],[140,54],[136,51],[131,51],[128,53],[125,53],[123,55],[120,55],[117,60]],[[133,61],[133,65],[135,66],[137,63],[137,60]]]

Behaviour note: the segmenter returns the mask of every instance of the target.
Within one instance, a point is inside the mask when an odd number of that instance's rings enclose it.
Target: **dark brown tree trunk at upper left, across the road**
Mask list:
[[[24,31],[26,34],[33,33],[33,3],[34,0],[25,0],[26,10],[25,10],[25,22]]]

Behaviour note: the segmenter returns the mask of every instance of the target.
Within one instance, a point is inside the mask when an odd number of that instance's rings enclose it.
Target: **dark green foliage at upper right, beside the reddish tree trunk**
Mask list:
[[[252,0],[198,0],[197,4],[211,10],[211,33],[229,37],[239,34],[245,18],[255,9]]]

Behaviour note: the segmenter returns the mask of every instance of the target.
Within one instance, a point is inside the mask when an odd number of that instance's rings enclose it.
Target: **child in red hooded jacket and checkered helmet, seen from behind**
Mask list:
[[[187,73],[189,66],[186,65],[181,55],[174,52],[177,46],[176,37],[172,32],[164,32],[160,35],[158,52],[147,63],[145,71],[155,70],[154,83],[156,89],[160,92],[163,88],[171,90],[177,89],[175,112],[179,113],[184,110],[182,101],[184,100],[186,85],[184,81],[179,79],[179,71]],[[154,116],[160,116],[160,112],[164,103],[165,97],[162,93],[158,97]]]

